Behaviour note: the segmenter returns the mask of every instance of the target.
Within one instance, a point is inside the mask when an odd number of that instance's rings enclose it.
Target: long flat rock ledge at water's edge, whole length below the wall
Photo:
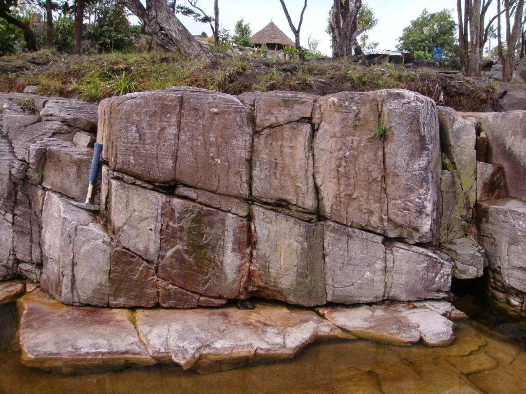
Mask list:
[[[186,297],[187,307],[205,301]],[[156,362],[207,374],[289,359],[320,339],[361,337],[394,345],[422,340],[428,346],[446,346],[454,339],[454,325],[443,316],[462,317],[439,300],[333,306],[319,315],[277,302],[258,301],[255,306],[74,307],[37,289],[18,300],[22,360],[28,366],[77,374]]]

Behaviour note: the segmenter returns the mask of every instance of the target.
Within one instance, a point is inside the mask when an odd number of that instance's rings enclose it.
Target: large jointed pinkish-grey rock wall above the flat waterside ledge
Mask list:
[[[104,100],[95,213],[68,202],[84,199],[93,121],[3,97],[0,274],[31,272],[63,303],[418,300],[482,275],[476,122],[413,92]]]

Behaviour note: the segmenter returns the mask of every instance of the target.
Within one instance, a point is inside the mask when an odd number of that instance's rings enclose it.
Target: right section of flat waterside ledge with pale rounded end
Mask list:
[[[352,335],[392,345],[407,346],[421,339],[427,346],[448,346],[454,340],[453,323],[424,303],[338,306],[325,317]]]

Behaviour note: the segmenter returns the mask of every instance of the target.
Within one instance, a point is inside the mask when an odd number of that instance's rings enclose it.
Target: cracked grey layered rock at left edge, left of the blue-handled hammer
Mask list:
[[[37,281],[46,192],[84,199],[97,106],[0,94],[0,109],[0,276],[23,274]]]

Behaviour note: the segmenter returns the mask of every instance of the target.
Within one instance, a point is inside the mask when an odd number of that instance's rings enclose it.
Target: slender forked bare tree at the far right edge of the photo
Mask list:
[[[502,45],[502,30],[500,22],[500,1],[497,3],[499,11],[499,18],[497,19],[497,39],[499,47],[497,53],[502,63],[502,80],[504,82],[511,81],[513,76],[515,46],[519,38],[519,27],[522,22],[522,11],[524,8],[524,0],[502,0],[504,6],[505,20],[506,20],[506,53],[504,54]],[[513,26],[511,26],[511,18],[513,17]]]

